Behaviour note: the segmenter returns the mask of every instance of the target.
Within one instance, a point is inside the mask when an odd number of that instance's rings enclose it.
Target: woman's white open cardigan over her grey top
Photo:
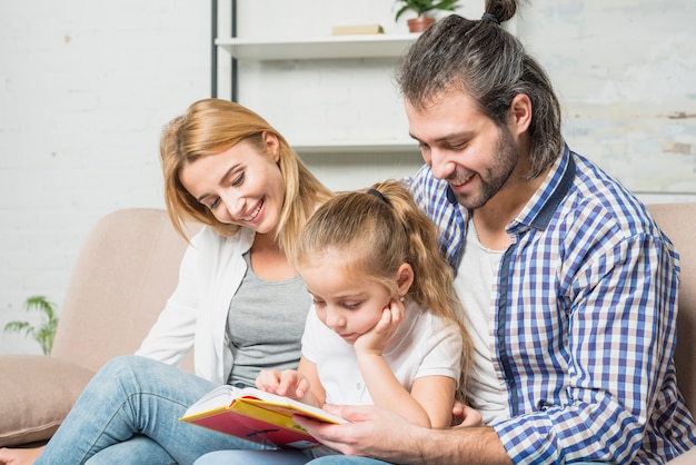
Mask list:
[[[233,364],[226,330],[228,310],[247,271],[242,254],[251,248],[253,237],[249,228],[223,237],[203,227],[183,255],[176,290],[136,355],[179,365],[193,348],[196,374],[226,383]]]

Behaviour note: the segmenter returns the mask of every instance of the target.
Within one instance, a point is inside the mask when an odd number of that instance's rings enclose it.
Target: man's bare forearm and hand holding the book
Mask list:
[[[325,406],[350,423],[332,425],[295,419],[324,444],[346,455],[398,463],[511,464],[490,427],[428,429],[375,406]]]

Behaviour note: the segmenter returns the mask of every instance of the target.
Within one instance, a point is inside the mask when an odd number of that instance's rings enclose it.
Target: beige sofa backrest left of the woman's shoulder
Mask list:
[[[100,219],[78,255],[51,355],[96,372],[135,353],[177,285],[186,246],[165,210],[123,209]],[[185,368],[192,370],[190,359]]]

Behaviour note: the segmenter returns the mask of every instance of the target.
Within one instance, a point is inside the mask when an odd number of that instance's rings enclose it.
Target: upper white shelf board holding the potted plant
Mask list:
[[[330,36],[308,39],[218,38],[216,46],[238,60],[309,60],[400,57],[418,33]]]

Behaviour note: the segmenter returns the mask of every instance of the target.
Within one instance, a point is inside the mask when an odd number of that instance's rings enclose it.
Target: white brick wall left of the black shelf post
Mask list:
[[[159,132],[209,96],[209,1],[0,1],[0,353],[39,353],[1,327],[62,303],[99,217],[163,207]]]

